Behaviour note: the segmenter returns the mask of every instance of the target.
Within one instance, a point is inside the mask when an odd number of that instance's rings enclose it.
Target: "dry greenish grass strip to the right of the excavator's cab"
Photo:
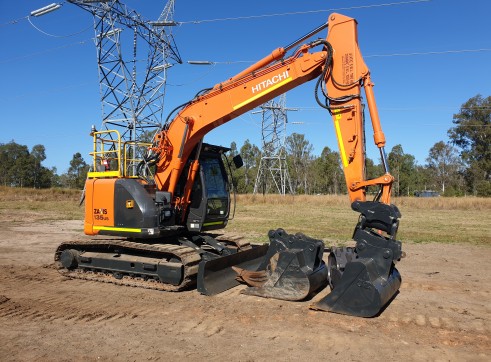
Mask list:
[[[395,198],[393,203],[402,214],[397,238],[403,242],[491,245],[489,198]],[[265,241],[268,230],[281,227],[343,245],[357,219],[346,196],[241,195],[228,229]]]

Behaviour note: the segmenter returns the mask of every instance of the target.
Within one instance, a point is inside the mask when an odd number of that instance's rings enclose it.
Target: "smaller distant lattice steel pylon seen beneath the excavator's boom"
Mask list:
[[[261,106],[262,109],[262,156],[259,163],[254,193],[263,194],[277,190],[279,194],[293,193],[286,163],[286,95],[283,94]]]

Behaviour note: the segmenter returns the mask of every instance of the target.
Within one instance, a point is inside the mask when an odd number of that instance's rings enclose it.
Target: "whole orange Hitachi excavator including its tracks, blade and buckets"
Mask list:
[[[327,38],[306,42],[326,28]],[[283,229],[271,230],[265,245],[227,239],[216,230],[232,214],[229,149],[206,144],[204,137],[311,80],[318,104],[332,116],[351,207],[360,214],[356,246],[326,248],[321,240]],[[362,88],[385,168],[370,180]],[[332,14],[326,24],[198,93],[170,113],[152,143],[121,142],[112,130],[91,135],[84,231],[94,237],[58,247],[55,260],[67,276],[172,291],[197,285],[206,295],[242,282],[248,284],[245,294],[285,300],[310,298],[329,285],[331,292],[311,308],[362,317],[377,315],[396,295],[400,213],[390,203],[394,179],[354,19]],[[147,150],[141,159],[135,147]],[[234,163],[240,167],[240,157]],[[368,187],[378,190],[373,201],[366,200]]]

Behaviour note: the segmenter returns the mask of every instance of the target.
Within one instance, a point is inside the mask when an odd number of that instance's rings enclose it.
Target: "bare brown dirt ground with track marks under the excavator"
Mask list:
[[[404,244],[400,293],[376,318],[240,294],[70,280],[56,246],[80,221],[0,235],[0,360],[491,360],[491,248]],[[322,291],[314,301],[322,298]]]

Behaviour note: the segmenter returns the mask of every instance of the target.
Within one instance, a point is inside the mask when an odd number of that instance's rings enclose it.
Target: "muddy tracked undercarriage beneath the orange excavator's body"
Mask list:
[[[265,249],[240,239],[215,239],[210,235],[156,239],[152,243],[98,238],[62,243],[55,262],[68,277],[180,291],[196,287],[200,263],[230,255],[257,259]],[[254,263],[248,265],[254,267]],[[221,291],[228,288],[222,285]]]

